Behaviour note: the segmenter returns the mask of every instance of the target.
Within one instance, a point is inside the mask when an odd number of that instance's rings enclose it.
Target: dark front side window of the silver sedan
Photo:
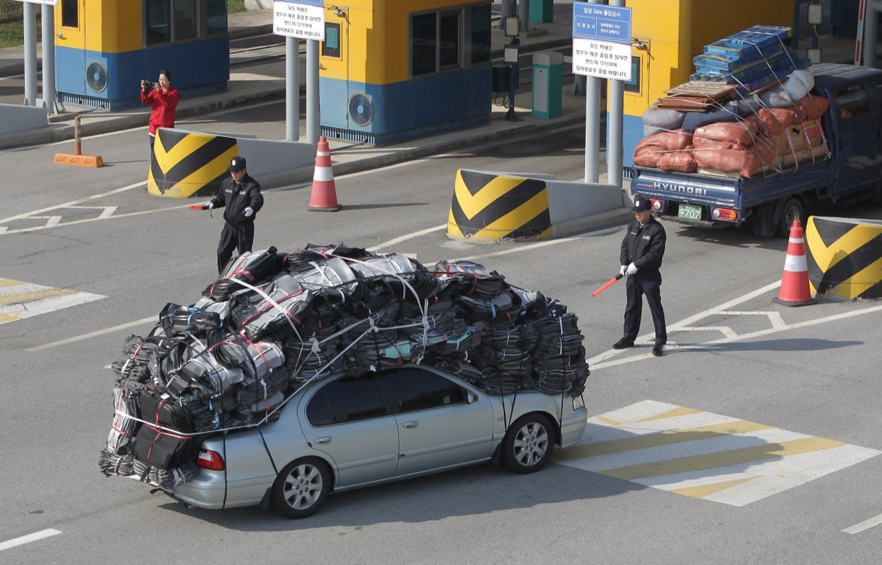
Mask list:
[[[400,413],[466,402],[466,391],[459,384],[425,369],[387,369],[378,378]]]

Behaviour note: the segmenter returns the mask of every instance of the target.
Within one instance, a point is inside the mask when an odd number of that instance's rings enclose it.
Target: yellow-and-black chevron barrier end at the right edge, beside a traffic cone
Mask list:
[[[882,298],[882,222],[811,216],[805,244],[815,294]]]

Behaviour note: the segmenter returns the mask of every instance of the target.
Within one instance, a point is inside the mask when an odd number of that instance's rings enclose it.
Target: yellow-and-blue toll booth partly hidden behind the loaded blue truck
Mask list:
[[[643,113],[664,91],[689,82],[692,57],[750,26],[793,26],[793,0],[627,0],[632,8],[632,79],[624,84],[624,176],[643,138]],[[609,117],[609,116],[608,116]],[[609,124],[609,119],[607,120]],[[608,132],[609,139],[609,132]]]

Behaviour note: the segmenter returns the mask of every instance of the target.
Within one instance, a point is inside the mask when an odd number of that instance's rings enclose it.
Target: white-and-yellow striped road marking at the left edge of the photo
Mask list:
[[[107,297],[72,288],[54,288],[22,280],[0,279],[0,323],[15,322],[102,298]]]

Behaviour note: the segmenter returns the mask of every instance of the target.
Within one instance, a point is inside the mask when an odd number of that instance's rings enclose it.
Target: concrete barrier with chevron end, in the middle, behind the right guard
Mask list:
[[[447,235],[476,242],[565,237],[587,231],[589,219],[603,212],[620,211],[624,218],[624,204],[622,190],[608,184],[460,169]]]

